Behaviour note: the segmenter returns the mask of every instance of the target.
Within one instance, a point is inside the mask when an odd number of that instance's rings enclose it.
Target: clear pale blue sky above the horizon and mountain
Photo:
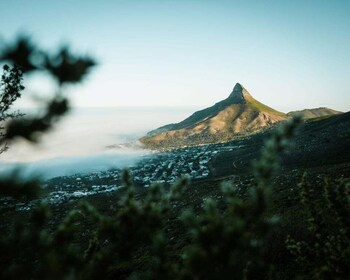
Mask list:
[[[283,112],[349,111],[349,14],[347,0],[1,0],[0,42],[95,57],[69,89],[78,107],[205,108],[239,82]],[[26,81],[50,93],[47,77]]]

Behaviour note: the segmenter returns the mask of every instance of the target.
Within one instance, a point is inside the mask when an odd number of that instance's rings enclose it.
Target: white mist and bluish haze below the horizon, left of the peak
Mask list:
[[[150,153],[138,143],[139,137],[191,112],[193,108],[73,109],[40,143],[11,143],[1,155],[0,170],[20,168],[24,176],[44,174],[44,178],[52,178],[127,168]]]

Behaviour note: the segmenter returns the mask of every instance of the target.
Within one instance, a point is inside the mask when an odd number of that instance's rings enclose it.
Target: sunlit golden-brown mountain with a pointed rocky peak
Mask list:
[[[140,139],[148,148],[193,146],[232,140],[289,118],[254,99],[239,83],[226,99]]]

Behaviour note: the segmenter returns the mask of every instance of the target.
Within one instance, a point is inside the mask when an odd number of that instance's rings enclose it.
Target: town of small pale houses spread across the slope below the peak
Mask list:
[[[168,152],[155,152],[144,156],[135,166],[129,168],[134,184],[148,187],[153,182],[170,184],[187,175],[192,180],[210,176],[210,160],[218,153],[238,148],[226,144],[211,144],[187,147]],[[121,170],[112,169],[89,174],[62,176],[48,180],[45,188],[49,203],[61,203],[71,199],[115,191],[122,185]],[[5,205],[10,205],[5,201]],[[27,210],[28,204],[18,204],[19,210]]]

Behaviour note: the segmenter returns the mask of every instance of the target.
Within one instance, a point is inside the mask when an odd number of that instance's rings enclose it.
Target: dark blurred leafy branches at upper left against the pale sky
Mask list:
[[[8,46],[2,48],[0,61],[11,63],[4,66],[2,86],[4,87],[1,100],[1,110],[7,111],[13,102],[20,97],[22,73],[44,71],[48,72],[57,82],[57,90],[48,99],[43,115],[25,116],[11,120],[6,125],[5,139],[12,140],[22,137],[36,142],[40,134],[47,132],[53,124],[69,110],[69,99],[64,96],[64,84],[79,83],[96,63],[88,57],[70,53],[64,47],[57,54],[51,55],[39,50],[28,37],[20,36]]]

